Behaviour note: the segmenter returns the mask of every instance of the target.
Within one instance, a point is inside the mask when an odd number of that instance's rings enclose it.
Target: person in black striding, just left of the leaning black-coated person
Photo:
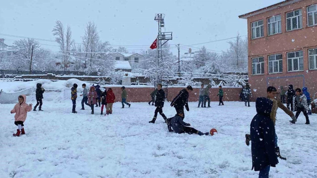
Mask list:
[[[164,121],[166,122],[166,116],[163,113],[163,107],[164,107],[164,100],[165,100],[165,92],[162,89],[162,85],[158,84],[158,91],[156,92],[156,100],[155,100],[155,106],[157,107],[154,112],[154,117],[152,121],[149,121],[149,123],[155,123],[158,117],[158,113],[163,117]]]

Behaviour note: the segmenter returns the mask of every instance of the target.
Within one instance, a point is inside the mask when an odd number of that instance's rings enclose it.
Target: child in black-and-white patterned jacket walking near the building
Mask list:
[[[292,124],[295,124],[295,122],[297,122],[298,116],[301,114],[301,112],[303,112],[306,118],[305,124],[310,124],[307,111],[311,112],[311,109],[308,107],[306,96],[305,94],[302,93],[302,90],[299,88],[295,89],[295,94],[296,96],[293,98],[293,106],[294,106],[294,110],[296,110],[296,115],[295,115],[296,119],[293,119],[289,122]]]

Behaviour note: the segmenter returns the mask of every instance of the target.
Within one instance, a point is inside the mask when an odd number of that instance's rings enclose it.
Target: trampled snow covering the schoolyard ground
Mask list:
[[[81,99],[81,98],[79,98]],[[14,104],[0,104],[1,178],[257,178],[251,171],[251,146],[246,146],[255,103],[224,102],[211,108],[190,103],[185,122],[214,136],[168,133],[154,106],[132,103],[131,108],[113,105],[113,114],[95,115],[80,109],[72,114],[71,101],[44,101],[44,112],[28,113],[26,135],[13,137],[17,127],[10,110]],[[33,103],[35,104],[35,103]],[[175,114],[165,103],[167,117]],[[270,178],[317,177],[317,115],[305,125],[301,114],[295,125],[280,109],[276,133],[281,155],[271,168]]]

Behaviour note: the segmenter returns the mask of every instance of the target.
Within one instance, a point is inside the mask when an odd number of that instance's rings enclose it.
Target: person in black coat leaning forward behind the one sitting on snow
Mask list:
[[[191,86],[186,87],[186,89],[182,89],[170,103],[170,106],[175,108],[177,114],[183,114],[185,117],[184,106],[186,110],[189,111],[188,97],[189,97],[189,92],[191,91],[193,91],[193,88]]]

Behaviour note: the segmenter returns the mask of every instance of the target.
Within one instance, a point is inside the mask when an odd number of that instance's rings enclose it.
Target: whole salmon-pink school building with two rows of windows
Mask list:
[[[317,92],[317,0],[285,0],[239,18],[248,22],[252,100],[268,86]]]

